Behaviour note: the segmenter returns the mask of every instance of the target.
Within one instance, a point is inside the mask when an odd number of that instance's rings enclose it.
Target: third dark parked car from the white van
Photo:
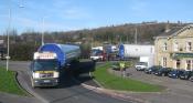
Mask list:
[[[169,72],[168,76],[172,79],[178,79],[183,73],[183,70],[172,70]]]

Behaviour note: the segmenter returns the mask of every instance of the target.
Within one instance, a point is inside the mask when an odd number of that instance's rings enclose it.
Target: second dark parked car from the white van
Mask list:
[[[158,71],[156,71],[154,74],[159,76],[167,76],[169,72],[171,72],[171,68],[161,68]]]

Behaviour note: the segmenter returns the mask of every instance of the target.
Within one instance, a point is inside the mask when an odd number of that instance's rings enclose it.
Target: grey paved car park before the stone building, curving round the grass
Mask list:
[[[110,70],[109,72],[117,76],[121,76],[120,71]],[[144,72],[136,71],[135,69],[127,69],[126,75],[126,78],[129,79],[162,85],[167,87],[167,90],[160,93],[124,92],[122,95],[125,96],[140,99],[144,103],[193,103],[193,82],[146,74]]]

